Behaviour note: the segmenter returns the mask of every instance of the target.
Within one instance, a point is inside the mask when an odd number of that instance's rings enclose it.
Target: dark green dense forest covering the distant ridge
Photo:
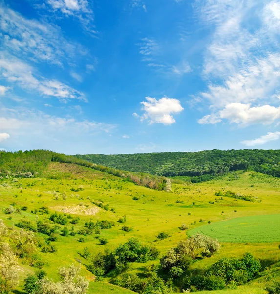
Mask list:
[[[280,177],[280,150],[211,150],[144,154],[76,155],[108,167],[162,176],[202,177],[204,180],[229,171],[253,170]]]

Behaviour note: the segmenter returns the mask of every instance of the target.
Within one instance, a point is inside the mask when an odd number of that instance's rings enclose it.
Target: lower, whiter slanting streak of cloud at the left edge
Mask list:
[[[36,90],[42,96],[54,96],[58,99],[78,99],[86,101],[84,94],[57,81],[35,77],[35,70],[19,59],[0,54],[0,77],[16,83],[27,90]]]

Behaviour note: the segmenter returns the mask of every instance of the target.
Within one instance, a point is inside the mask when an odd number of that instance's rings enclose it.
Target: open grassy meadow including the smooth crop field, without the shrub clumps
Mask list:
[[[175,181],[179,182],[179,181]],[[57,269],[73,262],[81,263],[82,274],[90,280],[88,293],[129,294],[133,293],[109,284],[109,275],[95,282],[94,276],[86,270],[86,260],[79,254],[85,247],[92,255],[104,249],[115,249],[131,237],[143,244],[156,245],[163,255],[177,242],[186,239],[186,232],[202,232],[215,237],[221,244],[219,253],[210,258],[195,262],[192,268],[204,269],[221,257],[240,257],[250,252],[261,260],[261,275],[246,286],[237,290],[206,291],[209,294],[264,294],[267,281],[280,279],[280,179],[258,172],[230,172],[228,175],[197,184],[172,183],[172,192],[156,191],[105,172],[92,170],[75,164],[51,163],[40,178],[21,178],[14,182],[12,178],[0,180],[0,219],[10,227],[20,220],[48,220],[54,212],[80,217],[74,231],[84,228],[86,221],[114,221],[115,226],[101,230],[100,235],[82,236],[84,242],[78,242],[80,235],[62,236],[54,242],[57,252],[38,255],[45,263],[43,270],[47,276],[56,280]],[[233,191],[250,197],[250,201],[217,196],[215,193]],[[67,196],[55,198],[56,193]],[[108,204],[108,210],[95,203]],[[13,205],[21,214],[5,214],[4,209]],[[47,207],[49,214],[42,211]],[[41,209],[40,209],[41,208]],[[113,211],[111,211],[111,209]],[[118,223],[126,216],[125,225],[133,228],[125,232]],[[186,224],[189,229],[179,227]],[[72,225],[66,225],[71,229]],[[16,228],[16,227],[15,227]],[[156,235],[165,232],[167,239],[159,240]],[[37,234],[42,239],[45,235]],[[101,245],[96,237],[106,238],[108,244]],[[233,244],[234,243],[234,244]],[[159,264],[159,259],[148,263]],[[141,273],[146,264],[131,263],[129,271]],[[17,293],[22,291],[24,277],[36,269],[28,263],[19,265],[20,283]]]

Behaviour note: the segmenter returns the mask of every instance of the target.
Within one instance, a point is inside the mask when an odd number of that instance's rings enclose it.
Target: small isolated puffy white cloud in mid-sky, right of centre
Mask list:
[[[143,115],[140,116],[141,121],[148,120],[152,123],[162,123],[170,125],[175,123],[173,114],[184,110],[181,103],[177,99],[163,97],[159,100],[156,98],[146,97],[146,101],[142,101]],[[133,116],[139,117],[138,114],[133,113]]]

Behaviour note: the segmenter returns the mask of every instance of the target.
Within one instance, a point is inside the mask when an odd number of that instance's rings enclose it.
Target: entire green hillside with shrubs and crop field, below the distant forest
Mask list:
[[[32,293],[26,278],[57,282],[71,264],[87,294],[267,294],[280,280],[280,178],[229,171],[150,189],[165,178],[43,150],[0,152],[0,169],[0,293]]]

